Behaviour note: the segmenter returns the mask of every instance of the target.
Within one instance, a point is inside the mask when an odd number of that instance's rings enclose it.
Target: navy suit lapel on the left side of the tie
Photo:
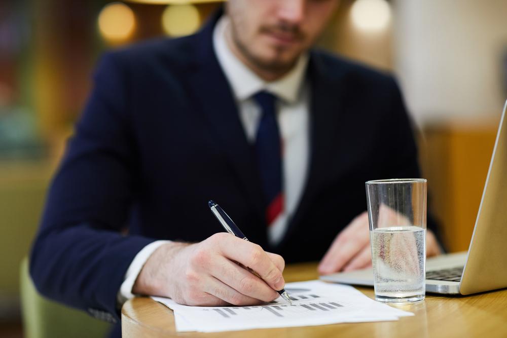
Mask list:
[[[239,120],[232,89],[213,49],[212,34],[220,14],[210,20],[196,36],[199,60],[188,74],[189,90],[193,104],[197,105],[197,110],[202,112],[214,132],[215,139],[210,142],[218,143],[225,152],[249,205],[255,209],[260,221],[263,221],[264,210],[257,164]]]

